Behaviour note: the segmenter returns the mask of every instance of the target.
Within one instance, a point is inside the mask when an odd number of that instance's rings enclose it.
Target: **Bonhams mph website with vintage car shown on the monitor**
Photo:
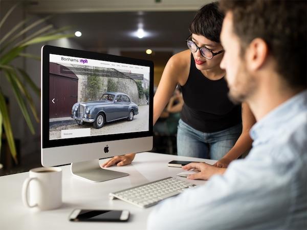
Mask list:
[[[50,54],[49,139],[149,130],[149,67]]]

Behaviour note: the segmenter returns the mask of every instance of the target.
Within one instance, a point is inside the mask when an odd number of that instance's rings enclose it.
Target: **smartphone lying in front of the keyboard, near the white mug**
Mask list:
[[[129,219],[127,210],[87,210],[75,209],[69,216],[70,221],[107,221],[123,222]]]

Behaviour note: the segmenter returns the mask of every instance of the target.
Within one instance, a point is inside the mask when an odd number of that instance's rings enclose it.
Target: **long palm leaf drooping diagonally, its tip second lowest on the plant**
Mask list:
[[[35,133],[34,127],[33,127],[32,121],[30,119],[29,113],[27,111],[27,107],[26,107],[25,101],[23,99],[23,96],[20,94],[20,90],[17,86],[16,80],[12,78],[11,73],[9,71],[4,71],[4,73],[5,73],[5,76],[7,77],[7,80],[12,85],[12,89],[14,91],[17,103],[19,105],[21,112],[23,113],[23,116],[26,120],[26,123],[27,123],[31,133],[34,134]]]

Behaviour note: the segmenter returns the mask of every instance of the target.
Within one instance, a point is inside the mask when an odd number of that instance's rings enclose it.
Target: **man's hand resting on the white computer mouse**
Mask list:
[[[191,174],[187,177],[187,179],[195,180],[195,179],[203,179],[208,180],[214,174],[223,174],[226,169],[218,168],[212,165],[208,165],[206,163],[190,163],[184,167],[185,170],[197,169],[200,171],[199,173]]]

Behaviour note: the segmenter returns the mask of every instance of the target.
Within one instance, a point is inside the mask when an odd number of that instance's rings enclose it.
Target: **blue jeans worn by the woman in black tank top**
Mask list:
[[[181,119],[177,132],[177,154],[206,159],[221,159],[242,133],[242,124],[218,132],[198,131]]]

